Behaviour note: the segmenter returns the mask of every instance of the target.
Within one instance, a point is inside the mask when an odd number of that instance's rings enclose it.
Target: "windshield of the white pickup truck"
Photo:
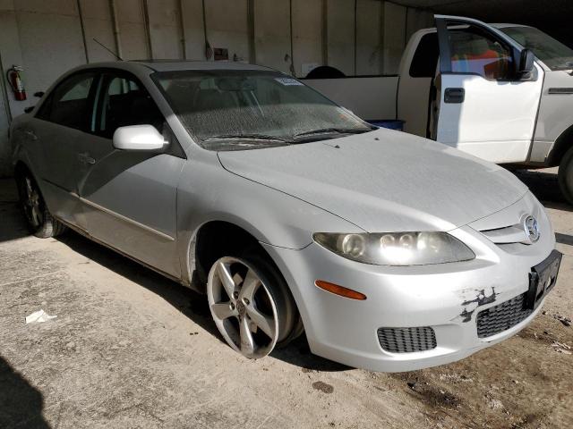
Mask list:
[[[542,30],[533,27],[505,27],[500,30],[519,45],[531,49],[550,69],[573,69],[573,49],[543,33]]]

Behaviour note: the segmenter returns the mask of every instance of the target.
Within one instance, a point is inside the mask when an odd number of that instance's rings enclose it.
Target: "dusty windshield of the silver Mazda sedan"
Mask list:
[[[372,130],[278,71],[165,71],[153,78],[184,127],[211,150],[284,146]]]

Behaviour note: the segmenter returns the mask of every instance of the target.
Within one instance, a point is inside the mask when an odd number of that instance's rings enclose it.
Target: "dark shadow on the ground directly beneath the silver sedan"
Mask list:
[[[131,259],[123,257],[115,251],[90,241],[73,231],[66,232],[58,237],[57,240],[60,240],[83,257],[87,257],[97,264],[122,275],[131,282],[137,283],[157,294],[189,317],[194,323],[199,324],[205,331],[225,342],[211,318],[207,297],[189,290],[179,283],[173,282],[161,274],[155,273],[149,268],[139,265]],[[349,369],[347,366],[312,355],[304,335],[293,341],[286,348],[274,350],[271,356],[291,365],[311,370],[343,371]]]

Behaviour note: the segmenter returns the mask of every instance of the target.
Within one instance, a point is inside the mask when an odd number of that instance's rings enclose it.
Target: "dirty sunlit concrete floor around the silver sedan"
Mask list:
[[[0,427],[571,427],[573,207],[552,171],[519,177],[565,254],[543,315],[452,364],[374,374],[309,353],[228,348],[206,300],[68,233],[30,237],[0,181]],[[57,315],[25,324],[43,308]]]

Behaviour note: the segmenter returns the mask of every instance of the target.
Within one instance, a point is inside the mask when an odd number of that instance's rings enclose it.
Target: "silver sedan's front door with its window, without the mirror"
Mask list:
[[[81,140],[79,195],[94,238],[178,277],[176,188],[183,149],[149,92],[125,71],[105,71],[95,129]],[[163,153],[115,149],[119,127],[150,124],[169,141]]]

